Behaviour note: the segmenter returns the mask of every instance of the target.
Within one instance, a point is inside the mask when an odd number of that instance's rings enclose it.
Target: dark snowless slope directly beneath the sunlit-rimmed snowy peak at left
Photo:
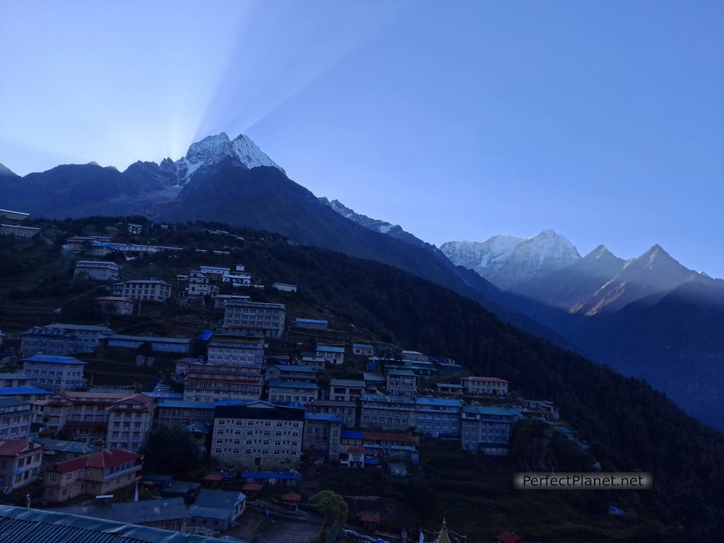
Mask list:
[[[266,230],[295,243],[316,245],[384,262],[478,301],[506,321],[565,345],[550,329],[506,308],[500,291],[430,247],[372,232],[320,203],[309,190],[274,167],[248,169],[228,159],[194,174],[178,197],[159,206],[159,218],[209,220]]]

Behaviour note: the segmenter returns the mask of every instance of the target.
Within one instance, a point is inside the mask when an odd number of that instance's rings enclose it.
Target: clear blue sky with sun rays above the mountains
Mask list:
[[[722,1],[5,0],[0,20],[20,174],[245,132],[432,243],[554,228],[724,276]]]

